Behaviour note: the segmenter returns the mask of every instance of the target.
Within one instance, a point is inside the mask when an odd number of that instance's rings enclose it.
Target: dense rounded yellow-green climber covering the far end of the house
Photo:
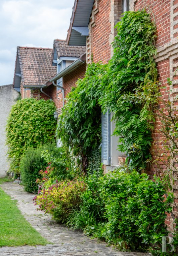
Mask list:
[[[12,106],[6,128],[11,171],[19,171],[20,159],[28,147],[54,141],[54,111],[54,102],[43,99],[22,99]]]

